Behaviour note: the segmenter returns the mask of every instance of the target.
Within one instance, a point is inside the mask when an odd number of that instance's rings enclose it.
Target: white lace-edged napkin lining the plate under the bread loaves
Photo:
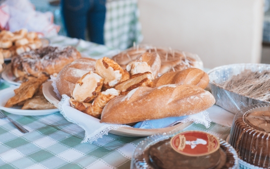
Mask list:
[[[107,135],[110,130],[116,130],[119,127],[130,127],[127,125],[112,125],[106,123],[99,123],[99,119],[91,117],[83,112],[73,108],[69,103],[70,97],[67,95],[62,95],[62,99],[59,102],[60,113],[72,123],[79,125],[85,130],[85,137],[82,143],[97,141],[98,138],[102,138],[103,135]],[[174,117],[174,118],[164,118],[157,120],[149,120],[144,122],[139,122],[134,125],[134,128],[141,129],[158,129],[173,126],[176,123],[186,123],[195,122],[196,124],[202,124],[206,128],[210,127],[211,120],[208,117],[207,111],[199,112],[195,115],[184,116],[184,117]]]

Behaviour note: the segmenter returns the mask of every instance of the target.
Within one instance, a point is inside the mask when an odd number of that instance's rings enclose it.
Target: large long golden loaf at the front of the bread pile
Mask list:
[[[214,97],[194,85],[139,87],[107,103],[100,123],[128,124],[145,120],[197,114],[212,106]]]

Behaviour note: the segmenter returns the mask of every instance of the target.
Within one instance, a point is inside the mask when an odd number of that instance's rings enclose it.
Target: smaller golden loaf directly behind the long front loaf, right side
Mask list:
[[[205,89],[208,83],[207,73],[197,68],[188,68],[180,72],[169,72],[154,79],[152,87],[167,84],[192,84]]]

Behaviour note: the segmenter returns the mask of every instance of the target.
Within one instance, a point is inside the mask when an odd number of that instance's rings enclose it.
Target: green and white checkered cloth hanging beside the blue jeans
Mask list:
[[[104,24],[106,46],[124,50],[142,41],[137,0],[107,1]]]

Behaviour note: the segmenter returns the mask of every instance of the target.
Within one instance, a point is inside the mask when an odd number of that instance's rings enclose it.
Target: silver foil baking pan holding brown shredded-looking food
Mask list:
[[[261,101],[245,95],[241,95],[219,86],[219,84],[225,82],[234,75],[240,74],[245,70],[251,70],[252,72],[262,72],[264,70],[270,70],[270,65],[233,64],[217,67],[208,71],[209,88],[215,98],[215,104],[236,114],[239,110],[241,110],[241,108],[251,104],[270,103],[268,101]]]

